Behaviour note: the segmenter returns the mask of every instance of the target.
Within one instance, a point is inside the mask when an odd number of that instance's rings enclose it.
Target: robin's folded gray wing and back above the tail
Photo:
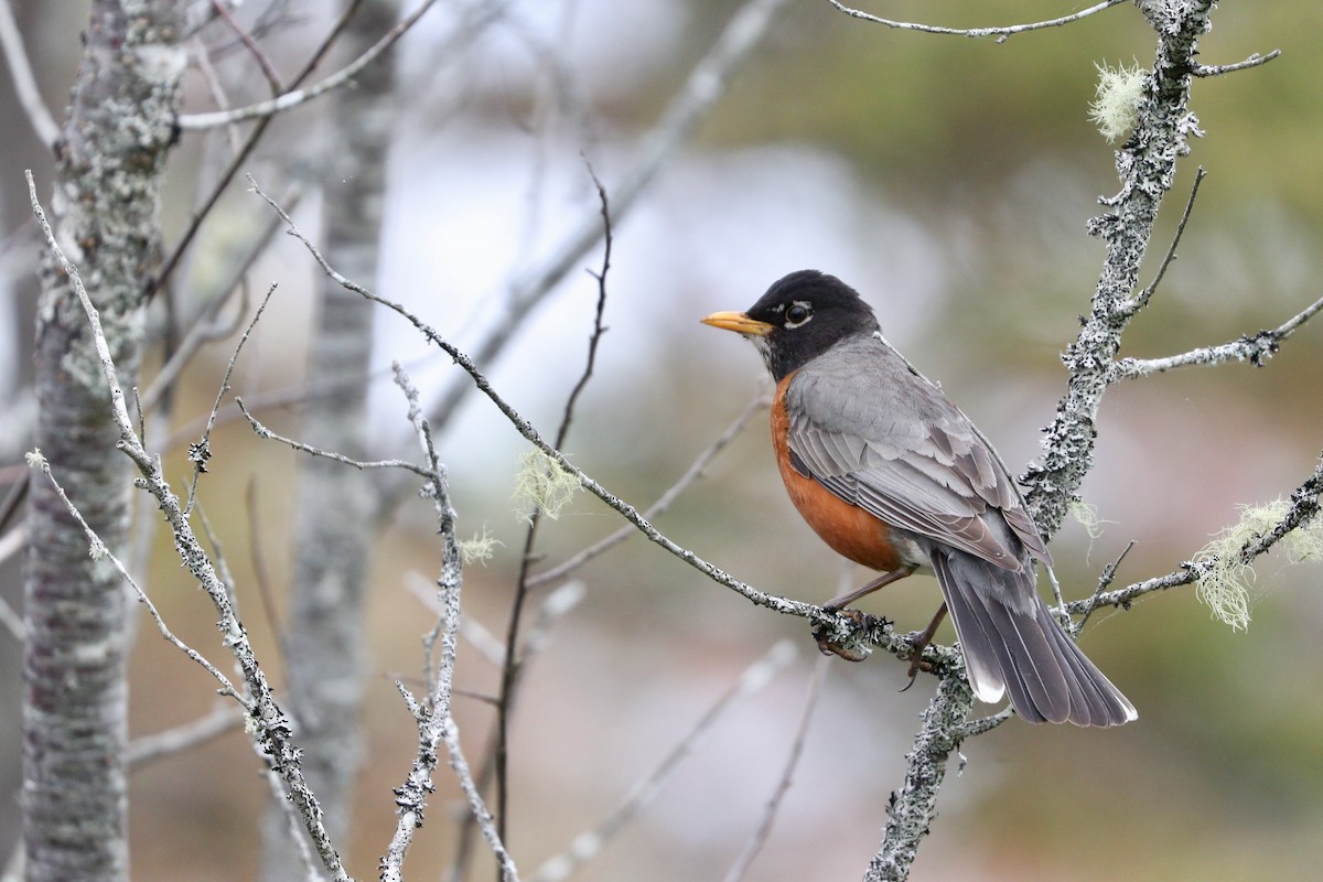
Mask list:
[[[1050,566],[991,444],[880,336],[800,368],[786,414],[795,467],[847,502],[1007,570],[1023,566],[1021,543]]]

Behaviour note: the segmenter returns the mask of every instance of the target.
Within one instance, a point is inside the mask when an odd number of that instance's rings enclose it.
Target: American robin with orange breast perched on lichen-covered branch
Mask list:
[[[747,312],[703,321],[751,340],[777,382],[771,444],[795,508],[837,554],[882,573],[828,607],[933,571],[980,701],[1009,693],[1029,722],[1138,717],[1039,596],[1035,561],[1050,573],[1052,555],[996,451],[853,288],[803,270]]]

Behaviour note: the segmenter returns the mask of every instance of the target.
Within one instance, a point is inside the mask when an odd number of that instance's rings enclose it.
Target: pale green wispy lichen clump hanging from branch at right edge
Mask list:
[[[1195,555],[1196,563],[1212,562],[1212,569],[1200,581],[1195,595],[1205,603],[1215,619],[1233,631],[1249,627],[1249,608],[1253,600],[1254,567],[1240,559],[1241,549],[1277,529],[1290,510],[1290,502],[1278,499],[1263,505],[1241,506],[1241,520],[1228,526]],[[1290,563],[1323,559],[1323,521],[1315,518],[1287,533],[1278,542],[1286,550]]]

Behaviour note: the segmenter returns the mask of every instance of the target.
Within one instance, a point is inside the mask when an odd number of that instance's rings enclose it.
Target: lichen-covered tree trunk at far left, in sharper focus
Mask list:
[[[94,0],[50,200],[120,369],[136,377],[143,296],[185,54],[177,0]],[[111,550],[128,526],[130,461],[87,317],[48,255],[40,270],[36,444]],[[24,844],[30,882],[127,879],[126,591],[45,480],[29,501]]]

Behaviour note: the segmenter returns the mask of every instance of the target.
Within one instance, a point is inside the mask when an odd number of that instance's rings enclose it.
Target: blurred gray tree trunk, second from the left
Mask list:
[[[343,49],[357,57],[400,13],[398,0],[368,0],[351,21]],[[398,118],[394,57],[365,67],[335,97],[323,180],[327,254],[349,278],[376,288],[386,153]],[[324,450],[365,459],[366,374],[373,305],[321,278],[320,312],[308,354],[308,381],[336,393],[308,410],[303,436]],[[369,473],[314,458],[303,463],[296,502],[294,596],[284,647],[287,707],[304,750],[304,771],[325,811],[331,837],[348,844],[353,779],[359,772],[364,660],[364,584],[370,558]],[[283,807],[263,824],[262,878],[299,878]]]

